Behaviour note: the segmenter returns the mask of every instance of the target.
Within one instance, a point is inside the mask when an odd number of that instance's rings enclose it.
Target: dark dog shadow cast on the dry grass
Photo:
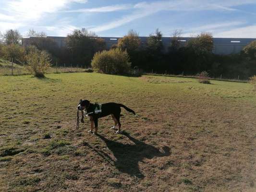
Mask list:
[[[170,148],[167,146],[162,148],[163,153],[161,153],[158,148],[139,141],[126,132],[124,132],[123,135],[130,139],[134,144],[122,144],[116,141],[111,141],[102,135],[98,135],[98,137],[106,143],[110,151],[112,151],[116,160],[111,159],[105,152],[96,151],[94,149],[98,155],[102,156],[105,160],[111,163],[111,165],[114,165],[120,172],[128,173],[129,175],[138,178],[144,178],[144,175],[139,169],[139,162],[143,162],[145,158],[152,159],[153,157],[169,156],[171,154]]]

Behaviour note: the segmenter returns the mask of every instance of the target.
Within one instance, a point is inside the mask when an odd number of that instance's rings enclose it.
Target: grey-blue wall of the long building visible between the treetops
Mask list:
[[[30,38],[23,38],[22,39],[22,45],[27,46],[31,43],[33,38],[38,37],[30,37]],[[45,38],[45,37],[42,37]],[[59,47],[65,47],[66,37],[61,36],[47,36],[46,38],[53,39]],[[118,39],[122,37],[100,37],[103,38],[106,42],[107,48],[110,48],[112,45],[118,43]],[[139,37],[141,42],[144,44],[146,43],[146,36],[140,36]],[[180,41],[182,44],[185,44],[188,40],[190,40],[193,37],[180,37]],[[168,47],[171,45],[171,37],[162,37],[162,43],[164,45],[165,50],[168,49]],[[221,55],[227,55],[232,53],[239,53],[244,46],[248,45],[250,42],[256,40],[256,38],[213,38],[213,53],[215,54],[221,54]]]

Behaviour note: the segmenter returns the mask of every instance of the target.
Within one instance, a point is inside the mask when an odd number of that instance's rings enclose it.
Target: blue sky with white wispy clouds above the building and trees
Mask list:
[[[134,29],[148,36],[210,32],[214,37],[256,38],[256,0],[0,0],[0,32],[18,29],[66,36],[86,28],[98,36]]]

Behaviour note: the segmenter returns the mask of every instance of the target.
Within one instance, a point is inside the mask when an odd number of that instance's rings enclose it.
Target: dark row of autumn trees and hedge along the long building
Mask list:
[[[58,47],[56,42],[43,32],[29,30],[30,45],[40,51],[47,51],[52,63],[59,66],[79,65],[90,67],[95,53],[107,49],[104,39],[94,32],[74,30],[66,37],[66,46]],[[24,63],[29,47],[22,47],[21,35],[17,30],[8,30],[1,36],[0,57],[13,58],[16,63]],[[216,55],[212,53],[213,37],[201,33],[183,43],[181,32],[175,31],[168,50],[164,50],[162,33],[158,29],[149,35],[146,43],[140,41],[136,31],[130,30],[111,49],[127,51],[131,68],[138,67],[146,72],[193,75],[207,71],[211,77],[247,79],[256,74],[256,42],[251,42],[240,53]]]

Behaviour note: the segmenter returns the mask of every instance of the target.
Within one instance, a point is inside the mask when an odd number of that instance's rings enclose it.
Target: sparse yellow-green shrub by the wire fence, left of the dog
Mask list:
[[[26,56],[27,69],[36,77],[45,77],[44,73],[50,67],[50,55],[46,51],[32,48]]]

